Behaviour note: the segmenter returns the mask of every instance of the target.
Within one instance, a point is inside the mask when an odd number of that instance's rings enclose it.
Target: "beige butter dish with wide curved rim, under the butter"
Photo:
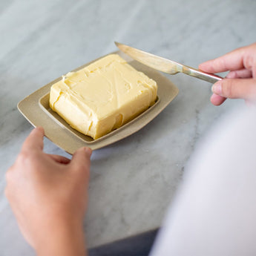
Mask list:
[[[171,100],[177,96],[178,88],[168,78],[153,68],[148,68],[147,66],[142,65],[140,62],[131,60],[128,56],[120,51],[115,53],[122,56],[122,58],[125,59],[129,65],[139,71],[142,71],[149,78],[154,79],[158,85],[157,102],[135,119],[132,119],[130,122],[122,125],[120,128],[117,128],[116,130],[111,131],[109,134],[106,134],[105,136],[96,140],[81,134],[79,131],[71,128],[70,125],[68,125],[68,123],[65,122],[61,116],[52,111],[49,106],[50,87],[51,85],[60,81],[62,77],[55,79],[53,82],[39,88],[39,90],[24,98],[18,103],[17,107],[19,111],[33,126],[42,126],[45,128],[45,136],[59,146],[59,148],[62,148],[69,154],[73,154],[76,149],[81,148],[82,146],[88,146],[92,150],[96,150],[122,140],[123,138],[134,134],[136,131],[139,131],[142,127],[147,125],[148,122],[154,119],[154,117],[160,114],[160,112],[163,111]],[[95,62],[95,60],[93,60],[93,62]],[[92,62],[89,62],[72,71],[85,68],[91,63]]]

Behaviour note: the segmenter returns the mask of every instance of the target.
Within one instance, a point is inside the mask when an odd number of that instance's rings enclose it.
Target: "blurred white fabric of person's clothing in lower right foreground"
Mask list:
[[[256,255],[256,111],[225,116],[188,163],[151,256]]]

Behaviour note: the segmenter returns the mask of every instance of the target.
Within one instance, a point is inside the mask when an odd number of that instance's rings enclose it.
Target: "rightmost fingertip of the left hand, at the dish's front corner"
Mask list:
[[[79,148],[72,157],[71,165],[75,169],[90,168],[91,148]]]

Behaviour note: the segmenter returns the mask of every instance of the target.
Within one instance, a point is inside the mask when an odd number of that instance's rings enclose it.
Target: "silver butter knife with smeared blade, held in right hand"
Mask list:
[[[138,62],[171,75],[176,73],[186,73],[188,76],[194,76],[206,82],[211,82],[212,84],[223,79],[223,77],[217,76],[214,73],[206,73],[202,70],[191,68],[151,53],[146,53],[143,50],[139,50],[128,45],[123,45],[119,42],[115,42],[115,44],[120,50],[122,50],[122,52],[126,53],[128,56],[131,56],[131,58],[137,60]]]

